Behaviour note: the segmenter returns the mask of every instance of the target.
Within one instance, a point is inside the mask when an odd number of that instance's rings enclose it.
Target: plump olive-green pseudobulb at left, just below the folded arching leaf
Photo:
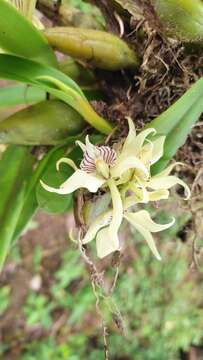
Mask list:
[[[0,122],[0,143],[56,145],[85,127],[82,117],[59,100],[42,101]]]

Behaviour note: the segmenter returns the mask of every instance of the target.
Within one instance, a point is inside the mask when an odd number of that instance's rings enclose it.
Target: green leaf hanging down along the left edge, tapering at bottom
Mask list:
[[[33,158],[27,147],[10,146],[0,160],[0,268],[21,214]]]

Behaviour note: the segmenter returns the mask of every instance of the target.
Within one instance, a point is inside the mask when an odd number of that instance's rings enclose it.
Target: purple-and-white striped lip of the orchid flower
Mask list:
[[[90,155],[86,150],[80,164],[81,170],[87,173],[94,172],[96,170],[95,161],[97,159],[104,160],[107,165],[113,165],[116,160],[116,152],[109,146],[95,146],[95,154],[92,156],[92,154]]]

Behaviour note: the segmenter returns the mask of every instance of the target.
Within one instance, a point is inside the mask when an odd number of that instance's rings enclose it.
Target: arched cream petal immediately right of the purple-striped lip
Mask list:
[[[129,155],[120,155],[118,160],[116,161],[115,165],[111,169],[111,174],[115,178],[120,178],[121,175],[129,170],[129,169],[137,169],[142,171],[145,177],[149,176],[149,171],[147,167],[143,164],[141,160],[136,158],[136,156],[129,156]]]

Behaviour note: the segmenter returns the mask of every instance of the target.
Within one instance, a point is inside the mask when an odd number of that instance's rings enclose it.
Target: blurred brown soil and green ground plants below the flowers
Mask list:
[[[162,206],[151,212],[164,222],[176,205],[172,200],[170,211]],[[191,215],[179,209],[176,225],[156,237],[162,262],[153,257],[141,236],[123,226],[124,251],[115,290],[108,304],[100,297],[110,359],[202,359],[201,254],[197,269],[192,259]],[[68,240],[72,221],[71,214],[38,213],[13,248],[1,277],[2,359],[104,359],[101,318],[90,277],[77,245]],[[98,263],[95,257],[94,261],[104,271],[109,288],[115,267],[108,259]],[[125,334],[113,321],[115,309],[122,314]]]

